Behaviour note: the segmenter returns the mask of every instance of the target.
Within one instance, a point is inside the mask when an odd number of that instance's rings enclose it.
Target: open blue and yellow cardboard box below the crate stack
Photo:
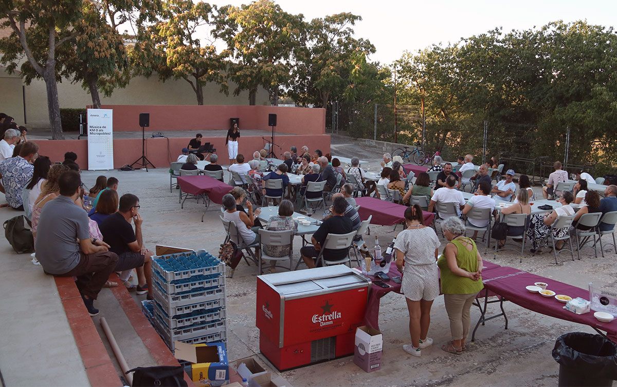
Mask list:
[[[191,362],[191,380],[210,386],[222,386],[229,381],[229,363],[225,343],[175,343],[176,359]]]

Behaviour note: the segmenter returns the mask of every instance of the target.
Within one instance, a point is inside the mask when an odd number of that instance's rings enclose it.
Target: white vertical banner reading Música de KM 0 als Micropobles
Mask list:
[[[114,169],[112,109],[88,109],[88,169]]]

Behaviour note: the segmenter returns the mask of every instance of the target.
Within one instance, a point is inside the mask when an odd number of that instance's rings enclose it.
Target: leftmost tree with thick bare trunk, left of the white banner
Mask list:
[[[49,123],[53,139],[64,139],[60,121],[56,51],[77,35],[74,26],[81,18],[81,0],[14,0],[0,2],[2,26],[12,33],[0,40],[2,63],[7,71],[17,69],[23,55],[27,58],[20,71],[27,84],[33,78],[45,81]]]

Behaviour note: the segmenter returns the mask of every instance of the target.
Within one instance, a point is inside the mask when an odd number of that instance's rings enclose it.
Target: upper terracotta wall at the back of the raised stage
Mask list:
[[[114,131],[139,131],[139,113],[150,113],[149,131],[227,129],[230,127],[232,117],[240,119],[240,128],[269,130],[270,113],[276,114],[276,131],[280,133],[324,134],[326,130],[326,110],[323,108],[248,105],[102,105],[101,107],[114,110]]]

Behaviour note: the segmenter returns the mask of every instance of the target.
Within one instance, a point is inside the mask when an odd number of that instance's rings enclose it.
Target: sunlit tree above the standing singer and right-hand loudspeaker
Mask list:
[[[261,85],[271,104],[278,105],[281,92],[290,86],[290,60],[302,41],[303,18],[284,12],[270,0],[221,9],[215,35],[233,50],[236,62],[231,65],[230,78],[238,85],[234,94],[248,90],[249,103],[254,105]]]

